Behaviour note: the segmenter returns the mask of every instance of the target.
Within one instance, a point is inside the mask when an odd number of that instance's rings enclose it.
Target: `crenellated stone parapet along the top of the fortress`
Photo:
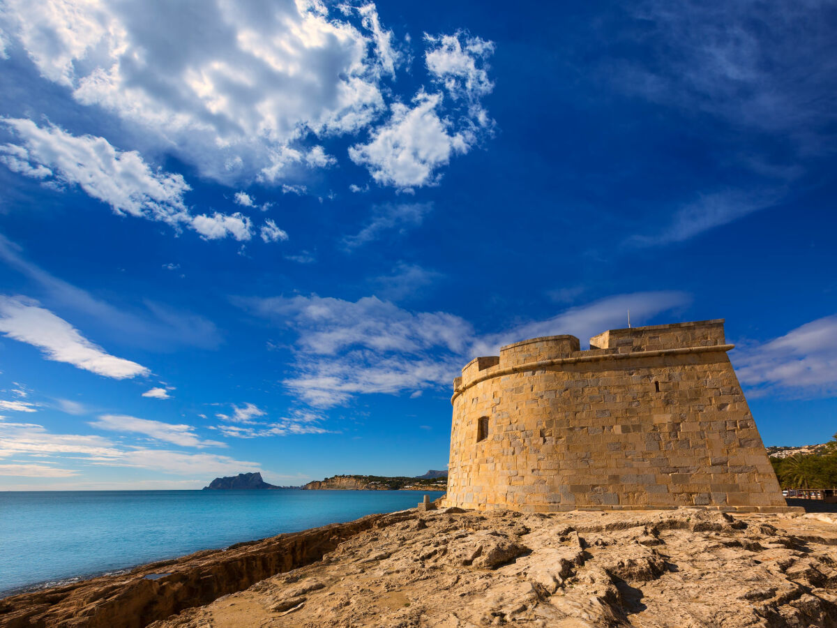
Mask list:
[[[590,338],[590,348],[581,350],[578,338],[570,335],[529,338],[501,347],[499,356],[474,358],[462,369],[462,377],[454,379],[454,393],[468,388],[475,381],[506,374],[542,363],[573,363],[578,360],[608,359],[644,352],[674,352],[684,349],[727,350],[724,319],[679,322],[670,325],[649,325],[611,329]],[[642,355],[635,355],[642,358]]]

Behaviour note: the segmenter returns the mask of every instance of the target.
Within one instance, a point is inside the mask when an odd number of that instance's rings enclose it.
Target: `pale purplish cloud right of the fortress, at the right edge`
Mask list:
[[[761,345],[732,353],[753,393],[817,397],[837,393],[837,315],[808,322]]]

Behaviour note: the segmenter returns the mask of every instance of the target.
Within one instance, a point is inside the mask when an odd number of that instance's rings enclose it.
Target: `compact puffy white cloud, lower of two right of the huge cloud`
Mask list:
[[[372,132],[367,144],[349,148],[349,157],[367,166],[381,185],[413,188],[439,183],[439,167],[454,153],[465,153],[476,142],[473,131],[459,130],[439,116],[442,95],[419,92],[413,107],[394,103],[389,121]]]

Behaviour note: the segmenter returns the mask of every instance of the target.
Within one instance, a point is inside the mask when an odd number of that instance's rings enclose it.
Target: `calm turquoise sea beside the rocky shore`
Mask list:
[[[429,491],[430,499],[441,492]],[[0,492],[0,595],[413,508],[419,491]]]

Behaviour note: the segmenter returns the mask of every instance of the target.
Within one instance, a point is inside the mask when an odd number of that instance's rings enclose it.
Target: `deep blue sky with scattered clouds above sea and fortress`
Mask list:
[[[726,319],[837,432],[837,5],[0,3],[0,490],[448,461],[509,342]]]

